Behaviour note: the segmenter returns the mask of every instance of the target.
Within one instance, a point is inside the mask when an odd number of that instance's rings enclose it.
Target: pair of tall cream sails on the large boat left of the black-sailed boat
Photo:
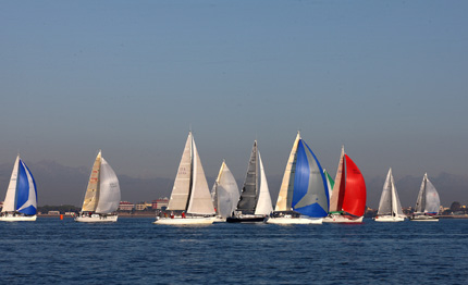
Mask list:
[[[214,214],[207,178],[192,132],[188,133],[185,142],[168,210],[186,211],[192,214]]]

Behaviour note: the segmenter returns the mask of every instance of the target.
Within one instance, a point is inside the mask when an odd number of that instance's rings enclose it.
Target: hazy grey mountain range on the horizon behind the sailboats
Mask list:
[[[11,164],[0,164],[0,200],[4,195],[12,172]],[[40,161],[29,163],[28,168],[36,179],[39,206],[46,205],[74,205],[81,207],[85,195],[85,189],[89,178],[88,168],[70,168],[54,161]],[[173,178],[138,178],[127,175],[120,175],[120,186],[122,200],[131,202],[151,201],[160,197],[170,197]],[[268,176],[271,200],[273,206],[276,203],[278,193],[283,175]],[[453,201],[461,205],[468,202],[468,177],[441,173],[439,176],[429,176],[441,196],[442,205],[449,207]],[[385,177],[366,177],[368,193],[368,206],[377,209]],[[214,178],[207,177],[211,189]],[[403,207],[415,206],[416,197],[421,185],[422,176],[405,176],[395,182]],[[239,190],[243,181],[237,181]]]

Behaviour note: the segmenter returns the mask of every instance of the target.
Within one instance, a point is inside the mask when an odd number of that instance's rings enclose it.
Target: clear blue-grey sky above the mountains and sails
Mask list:
[[[468,176],[467,1],[1,1],[0,162],[282,175],[295,135],[366,179]],[[33,171],[34,173],[34,171]],[[1,185],[7,188],[7,185]],[[415,194],[416,196],[416,194]],[[275,200],[275,197],[273,197]]]

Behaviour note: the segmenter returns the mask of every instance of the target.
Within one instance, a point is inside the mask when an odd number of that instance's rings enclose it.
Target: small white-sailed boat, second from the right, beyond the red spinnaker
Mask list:
[[[390,169],[383,184],[379,210],[373,220],[375,222],[403,222],[405,218],[406,215],[403,213],[402,203],[399,202],[398,193],[393,181],[392,169]]]

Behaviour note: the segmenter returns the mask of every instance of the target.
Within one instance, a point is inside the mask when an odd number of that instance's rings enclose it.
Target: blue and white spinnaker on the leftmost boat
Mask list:
[[[36,214],[37,212],[36,182],[29,169],[20,159],[19,177],[16,187],[16,210],[24,214]]]

